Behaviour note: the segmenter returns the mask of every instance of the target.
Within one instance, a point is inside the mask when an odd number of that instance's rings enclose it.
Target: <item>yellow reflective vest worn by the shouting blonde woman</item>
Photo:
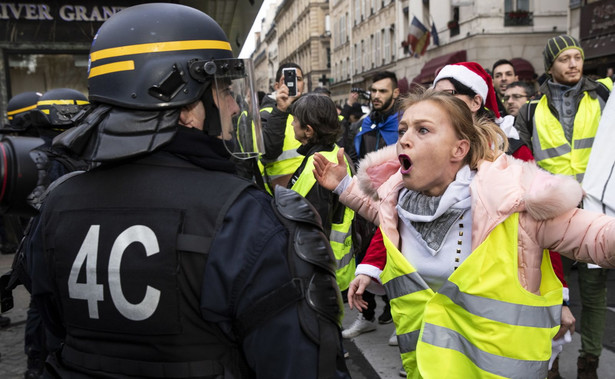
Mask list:
[[[521,286],[518,223],[515,213],[496,226],[437,293],[422,289],[424,281],[383,234],[381,280],[409,378],[547,376],[551,339],[560,326],[561,283],[545,250],[541,295]],[[416,276],[405,281],[410,286],[398,282],[389,292],[391,281],[409,274]]]

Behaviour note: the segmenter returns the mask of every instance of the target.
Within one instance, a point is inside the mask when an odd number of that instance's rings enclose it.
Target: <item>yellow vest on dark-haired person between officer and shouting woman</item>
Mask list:
[[[339,147],[335,145],[332,151],[320,151],[325,158],[331,162],[337,162],[337,152]],[[346,160],[346,157],[344,157]],[[350,164],[346,160],[348,175],[351,175]],[[314,156],[307,158],[307,162],[299,178],[291,189],[301,196],[306,196],[308,192],[316,184],[316,178],[312,173],[314,170]],[[350,281],[354,278],[356,269],[356,261],[354,249],[352,248],[352,220],[354,220],[354,211],[348,207],[344,209],[344,218],[341,223],[331,223],[331,233],[329,234],[329,243],[335,255],[335,263],[337,269],[335,277],[340,291],[348,288]],[[323,220],[324,223],[324,220]]]

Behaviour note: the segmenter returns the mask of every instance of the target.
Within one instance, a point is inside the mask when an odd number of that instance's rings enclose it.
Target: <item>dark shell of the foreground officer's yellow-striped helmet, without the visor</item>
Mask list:
[[[164,3],[129,7],[105,21],[94,37],[90,100],[132,109],[181,107],[201,98],[216,68],[210,61],[232,58],[222,28],[197,9]]]

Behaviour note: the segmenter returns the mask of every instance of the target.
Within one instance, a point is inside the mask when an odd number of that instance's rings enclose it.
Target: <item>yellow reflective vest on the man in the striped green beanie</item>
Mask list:
[[[582,182],[601,114],[600,101],[586,92],[574,118],[571,144],[559,120],[551,113],[547,97],[543,96],[532,121],[536,163],[551,173],[574,176]]]

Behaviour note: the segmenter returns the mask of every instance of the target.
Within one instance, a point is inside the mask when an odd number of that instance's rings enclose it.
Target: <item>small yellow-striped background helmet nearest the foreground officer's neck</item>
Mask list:
[[[90,103],[81,92],[71,88],[56,88],[45,92],[32,110],[32,123],[41,128],[68,129],[73,117]]]

